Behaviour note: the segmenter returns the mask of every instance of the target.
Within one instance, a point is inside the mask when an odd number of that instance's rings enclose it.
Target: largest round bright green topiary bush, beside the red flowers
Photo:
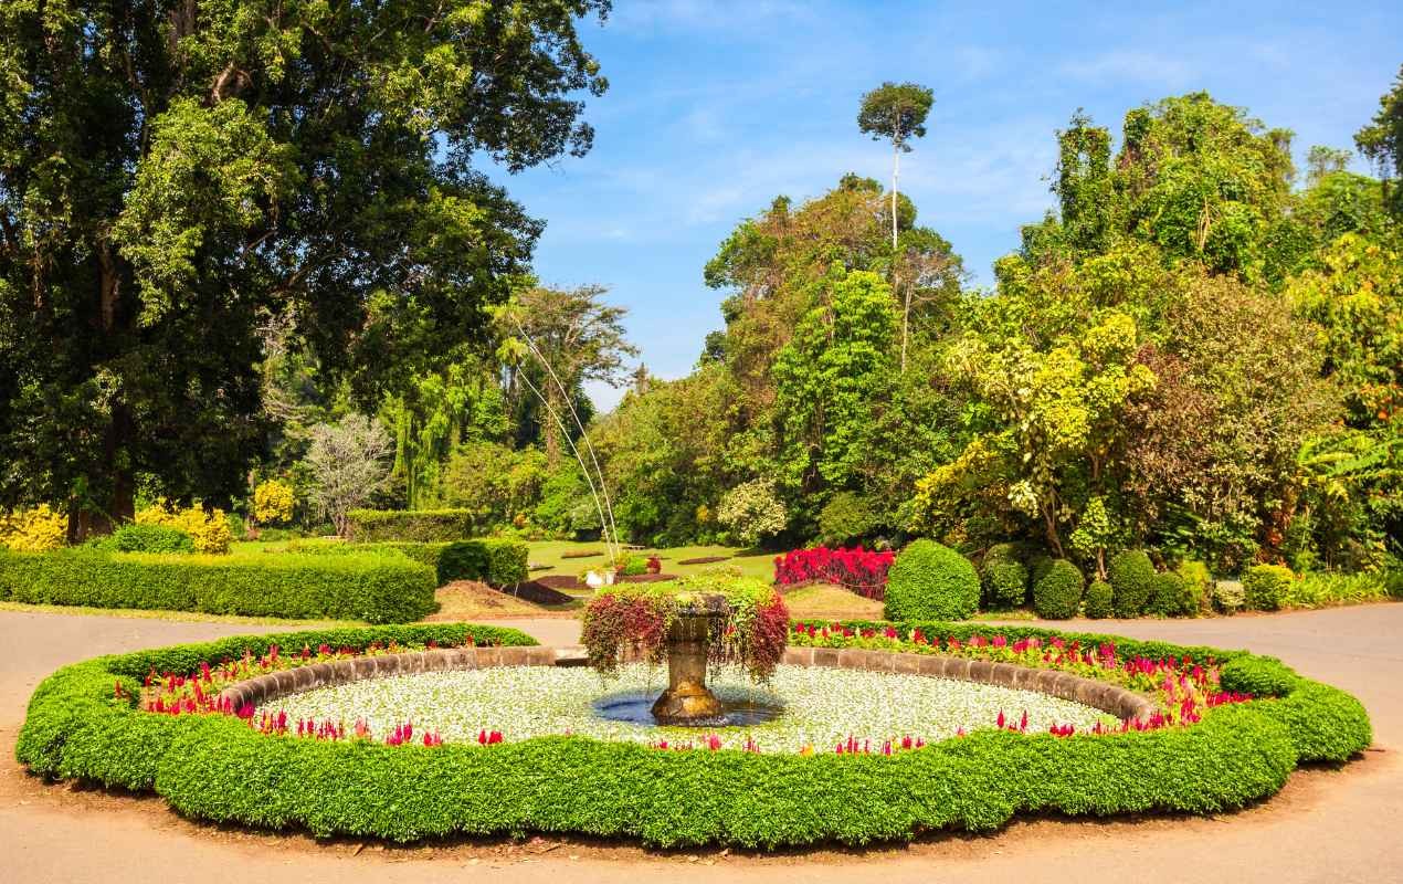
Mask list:
[[[964,620],[978,609],[979,575],[948,546],[916,540],[887,572],[888,620]]]

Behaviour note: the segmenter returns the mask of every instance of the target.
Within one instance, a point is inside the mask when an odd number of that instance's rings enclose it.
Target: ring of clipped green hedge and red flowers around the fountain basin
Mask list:
[[[317,835],[542,831],[773,848],[988,831],[1019,812],[1219,812],[1371,739],[1354,697],[1243,651],[958,623],[804,624],[803,638],[788,637],[811,645],[815,662],[821,652],[939,652],[971,672],[1017,657],[1134,690],[1153,679],[1163,711],[1153,727],[1037,732],[1006,718],[891,755],[859,745],[804,755],[499,730],[471,742],[404,727],[386,738],[210,700],[223,679],[323,658],[532,643],[513,630],[434,624],[226,638],[65,667],[35,690],[17,756],[46,777],[154,791],[192,818]],[[877,650],[828,650],[864,644]]]

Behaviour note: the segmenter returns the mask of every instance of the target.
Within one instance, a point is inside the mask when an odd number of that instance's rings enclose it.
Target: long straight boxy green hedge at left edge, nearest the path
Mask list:
[[[408,623],[434,610],[434,571],[384,556],[0,551],[0,599],[264,617]]]

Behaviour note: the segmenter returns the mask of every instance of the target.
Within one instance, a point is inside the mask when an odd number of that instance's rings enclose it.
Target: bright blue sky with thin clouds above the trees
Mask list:
[[[1403,4],[1160,6],[616,0],[581,27],[610,81],[585,111],[593,150],[495,177],[547,222],[542,281],[610,286],[641,361],[680,377],[721,327],[702,268],[737,222],[847,171],[890,180],[856,123],[882,80],[934,88],[901,189],[986,285],[1052,205],[1054,130],[1079,107],[1118,136],[1127,109],[1204,88],[1294,129],[1303,164],[1352,147],[1403,63]]]

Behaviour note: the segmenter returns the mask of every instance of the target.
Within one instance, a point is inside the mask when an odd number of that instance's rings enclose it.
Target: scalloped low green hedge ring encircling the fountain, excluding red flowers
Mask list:
[[[996,631],[923,627],[940,636]],[[487,634],[477,626],[407,629],[417,630],[415,641],[439,636],[445,644],[449,629],[478,641]],[[1219,812],[1273,794],[1299,763],[1340,762],[1369,742],[1354,697],[1277,661],[1108,636],[1080,638],[1114,640],[1125,652],[1229,659],[1242,685],[1275,685],[1282,695],[1215,709],[1187,728],[1068,738],[988,730],[894,756],[673,752],[582,737],[434,748],[317,742],[262,737],[222,716],[140,713],[135,700],[114,699],[115,679],[135,695],[153,667],[194,669],[199,659],[269,643],[363,645],[370,636],[384,631],[230,638],[66,667],[35,690],[17,755],[45,776],[154,790],[191,817],[317,835],[414,841],[542,831],[777,848],[989,831],[1016,812]]]

